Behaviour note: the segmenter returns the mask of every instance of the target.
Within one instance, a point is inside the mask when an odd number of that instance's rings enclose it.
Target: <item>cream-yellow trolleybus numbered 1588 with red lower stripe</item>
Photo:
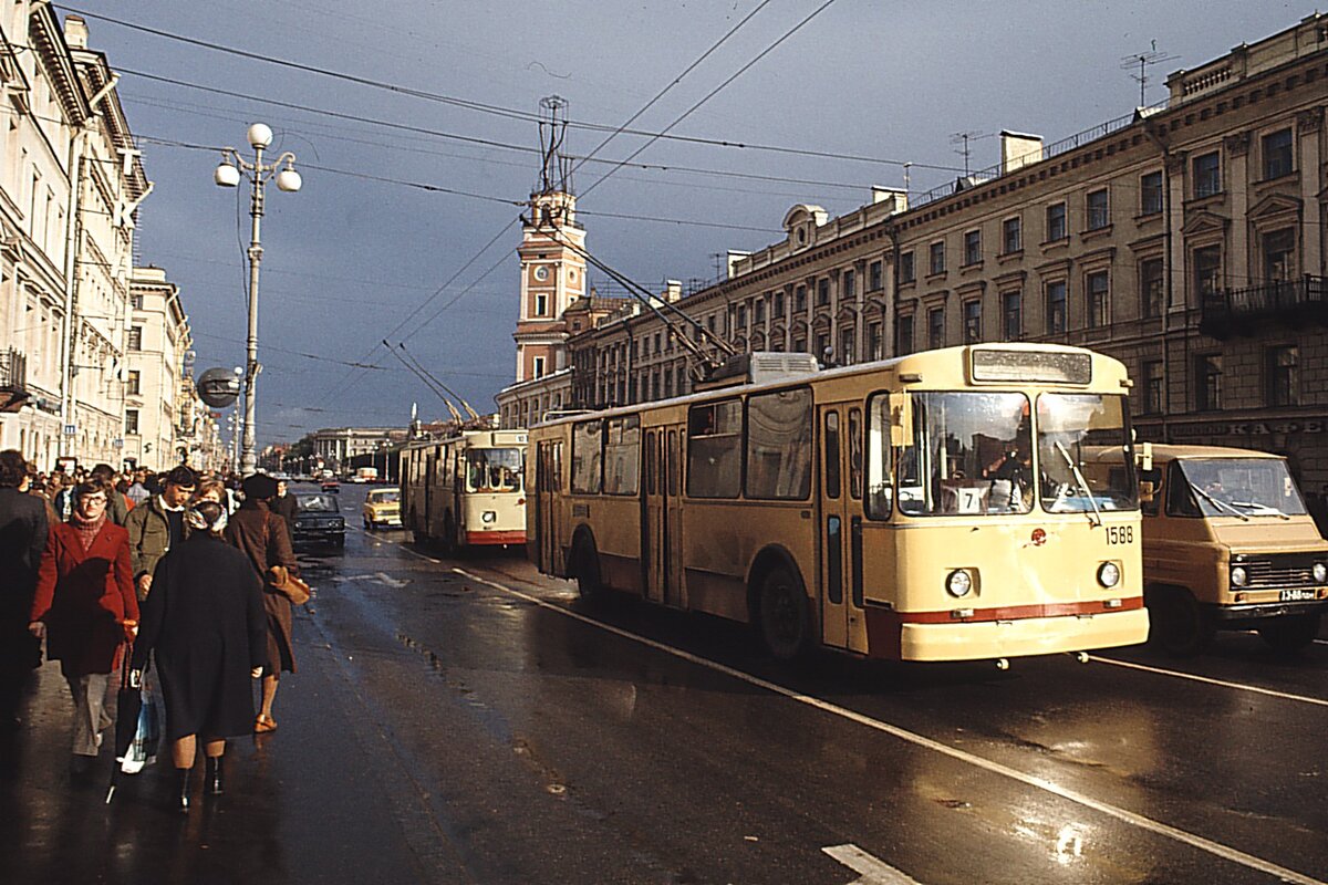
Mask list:
[[[991,344],[551,421],[529,552],[586,597],[749,622],[778,658],[1142,642],[1129,383],[1089,350]]]

